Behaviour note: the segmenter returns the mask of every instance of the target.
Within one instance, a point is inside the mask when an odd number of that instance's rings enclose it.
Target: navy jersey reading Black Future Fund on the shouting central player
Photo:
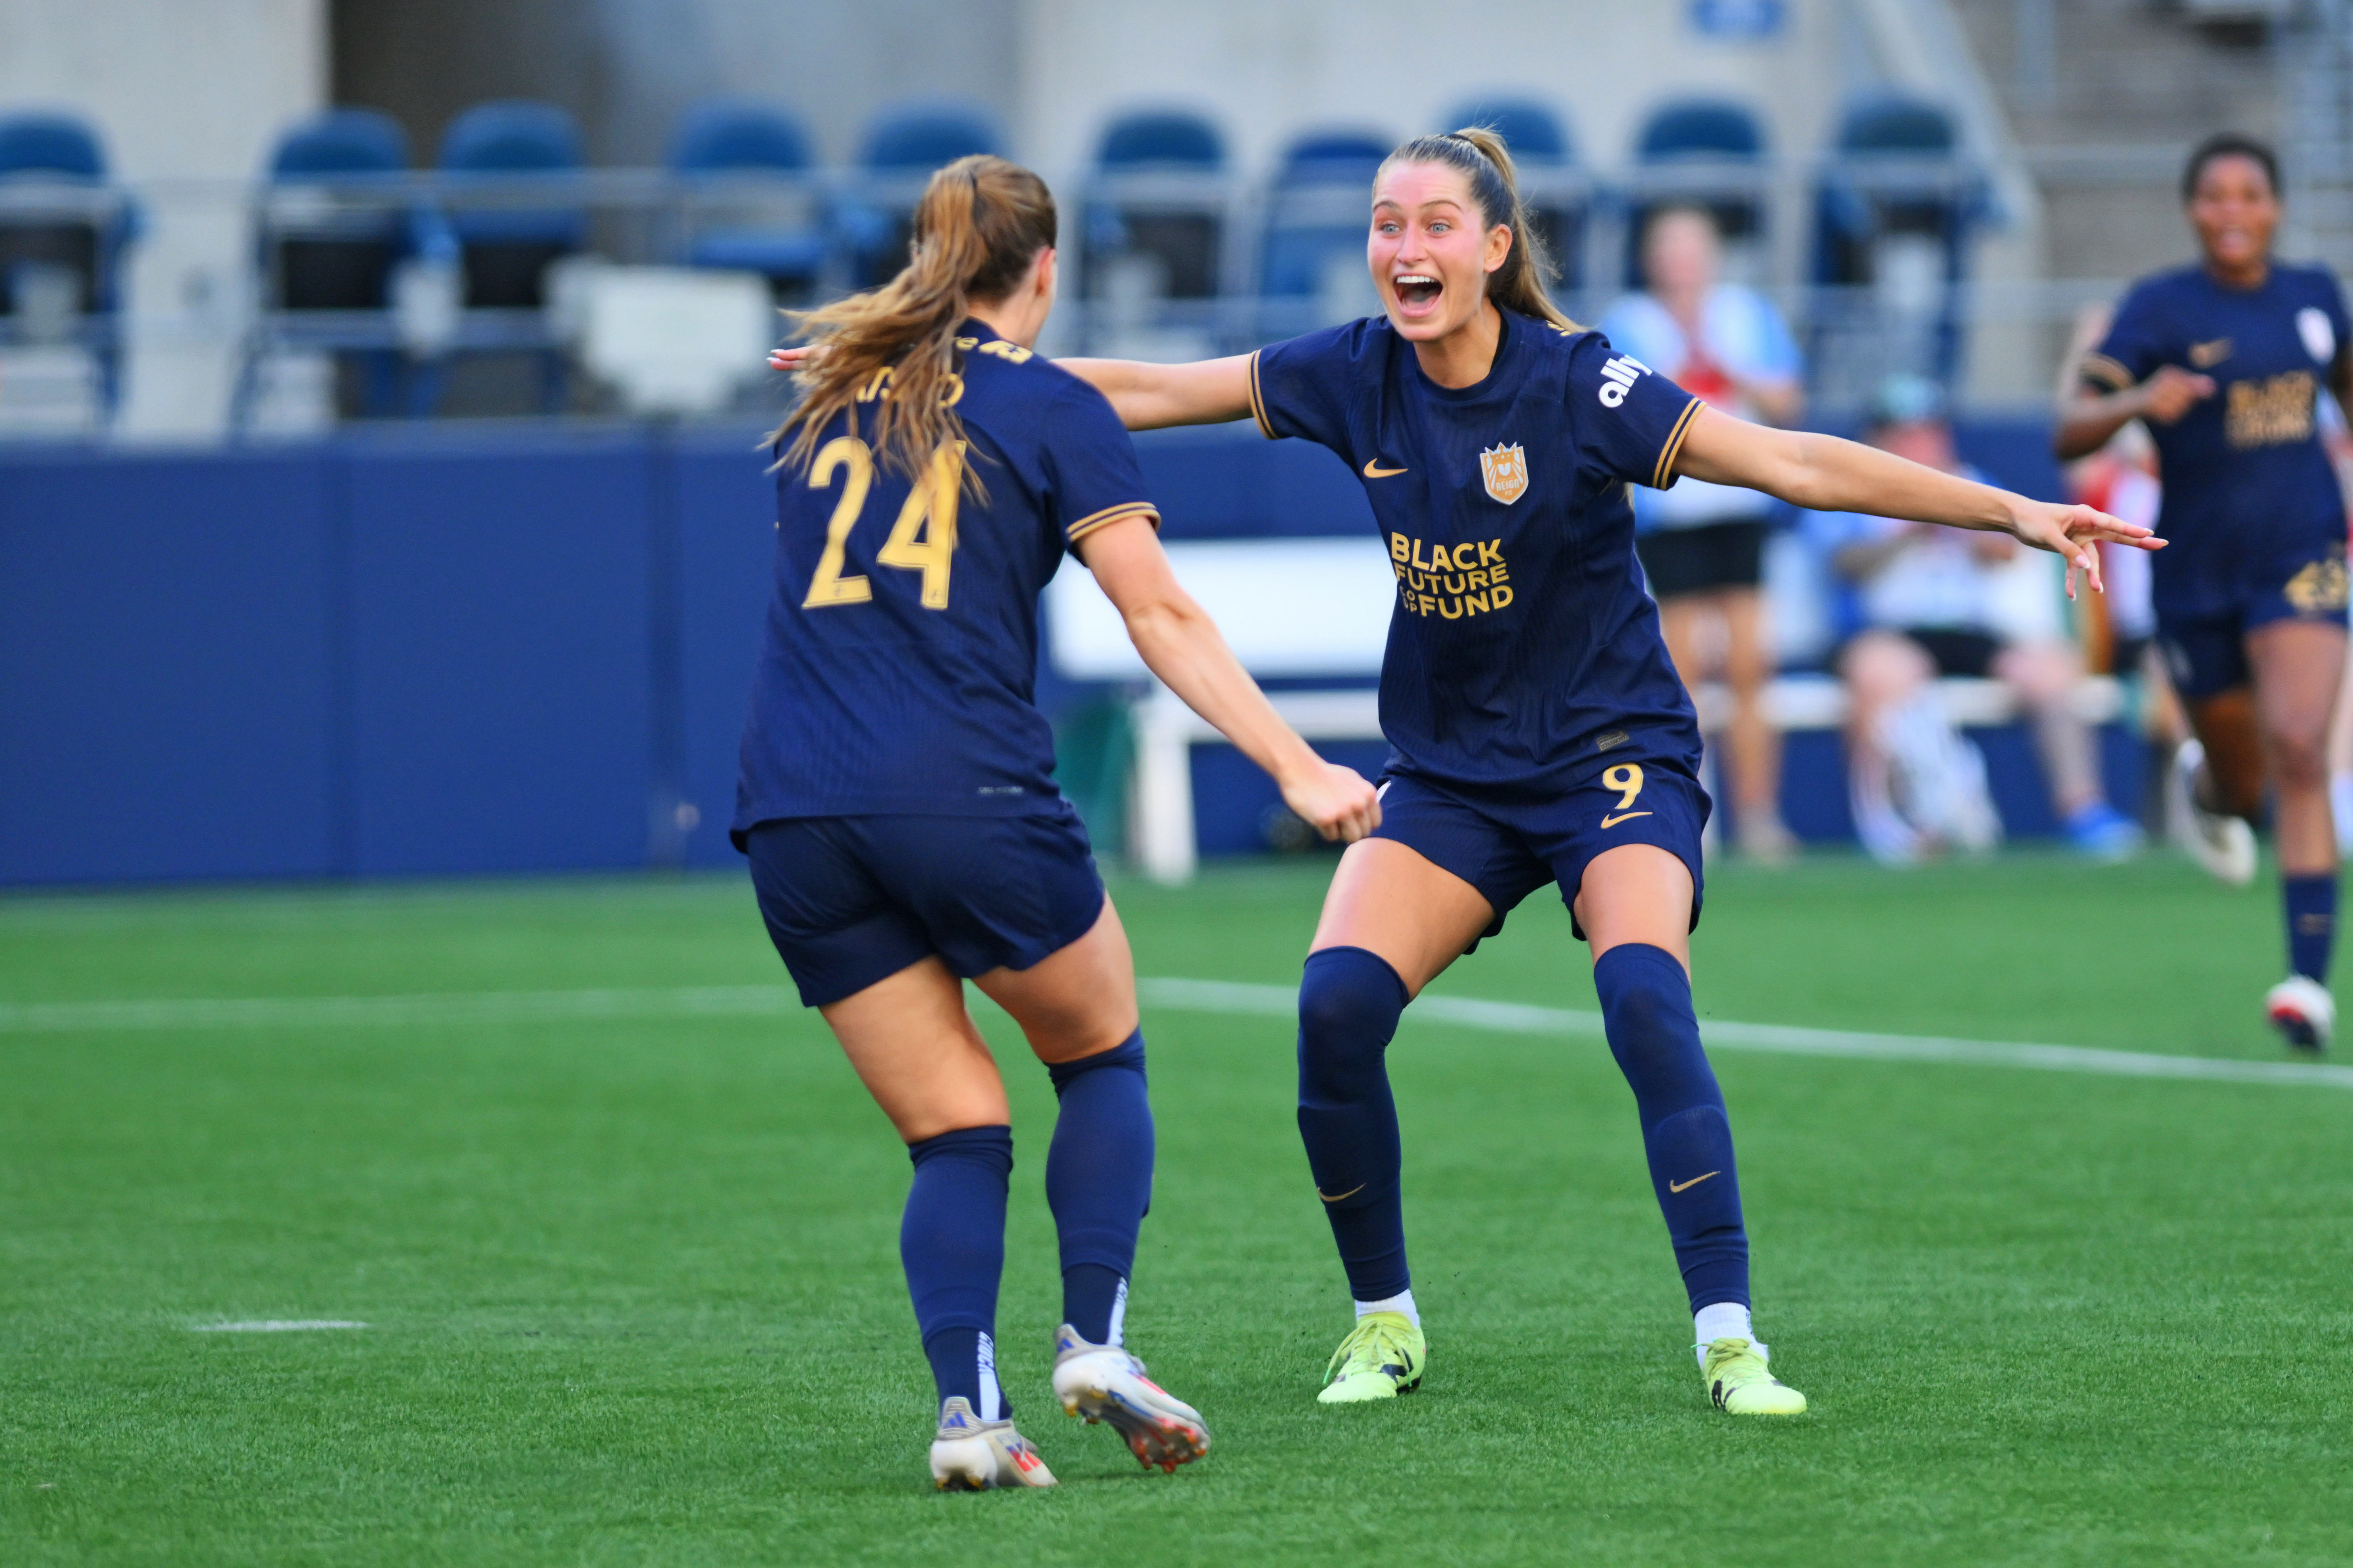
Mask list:
[[[1697,397],[1598,331],[1508,310],[1478,386],[1438,386],[1369,317],[1261,348],[1249,395],[1266,435],[1320,442],[1365,480],[1398,574],[1393,771],[1558,795],[1614,762],[1699,766],[1626,496],[1673,484]]]

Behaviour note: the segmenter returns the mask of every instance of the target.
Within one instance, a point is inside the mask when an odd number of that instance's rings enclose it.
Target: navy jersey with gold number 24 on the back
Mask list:
[[[958,339],[965,449],[908,480],[866,444],[878,374],[776,470],[776,595],[753,677],[734,835],[793,816],[1059,811],[1031,703],[1038,592],[1061,552],[1144,498],[1092,386],[981,322]],[[986,487],[976,501],[962,468]]]

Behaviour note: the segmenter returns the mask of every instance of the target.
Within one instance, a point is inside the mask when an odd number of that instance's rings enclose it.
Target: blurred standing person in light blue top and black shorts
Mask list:
[[[1720,268],[1722,240],[1706,207],[1657,212],[1642,235],[1649,289],[1612,306],[1602,331],[1708,407],[1791,425],[1805,400],[1798,346],[1765,296],[1722,282]],[[1772,505],[1753,489],[1699,480],[1635,489],[1635,550],[1682,684],[1699,691],[1720,672],[1732,686],[1727,750],[1739,846],[1786,860],[1798,842],[1781,825],[1781,736],[1765,717],[1772,639],[1760,583]]]

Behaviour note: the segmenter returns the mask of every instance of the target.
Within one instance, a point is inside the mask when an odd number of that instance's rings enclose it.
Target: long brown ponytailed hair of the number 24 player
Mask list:
[[[896,277],[788,313],[824,353],[795,378],[800,407],[769,437],[791,437],[781,461],[807,465],[833,416],[868,402],[868,440],[882,463],[922,473],[941,442],[962,437],[955,329],[974,303],[1012,294],[1054,233],[1054,195],[1021,165],[979,153],[936,172],[915,202],[915,237]],[[979,487],[969,463],[965,477]]]

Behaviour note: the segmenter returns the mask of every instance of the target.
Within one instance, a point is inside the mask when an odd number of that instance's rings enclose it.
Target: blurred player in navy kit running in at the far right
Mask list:
[[[2254,877],[2249,820],[2271,788],[2287,978],[2264,1011],[2289,1044],[2337,1025],[2337,830],[2327,733],[2346,661],[2346,503],[2315,416],[2348,395],[2346,308],[2327,268],[2271,256],[2278,160],[2245,136],[2191,153],[2181,200],[2198,266],[2134,284],[2082,357],[2057,454],[2078,458],[2139,418],[2158,444],[2158,639],[2198,743],[2177,776],[2195,844],[2228,882]]]

